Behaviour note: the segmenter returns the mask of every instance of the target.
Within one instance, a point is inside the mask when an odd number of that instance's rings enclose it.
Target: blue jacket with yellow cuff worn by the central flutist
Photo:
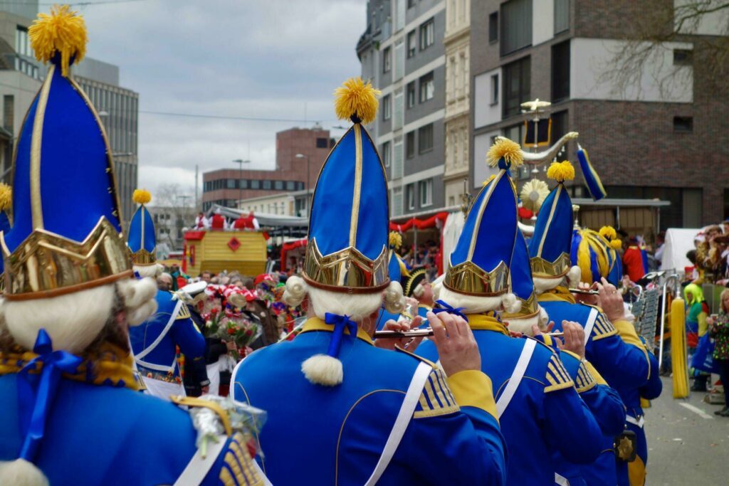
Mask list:
[[[276,486],[367,482],[420,363],[375,348],[359,329],[343,337],[343,383],[314,385],[301,364],[327,352],[330,329],[311,318],[295,340],[255,351],[234,372],[235,399],[268,412],[260,463]],[[494,415],[488,377],[466,371],[447,380],[433,369],[378,485],[504,484],[506,446]]]

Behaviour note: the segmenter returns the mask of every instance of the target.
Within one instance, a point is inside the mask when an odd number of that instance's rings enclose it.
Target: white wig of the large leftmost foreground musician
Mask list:
[[[0,320],[23,348],[33,349],[39,330],[45,329],[54,350],[78,354],[109,321],[117,291],[132,326],[141,324],[157,310],[155,281],[125,279],[46,299],[0,299]]]

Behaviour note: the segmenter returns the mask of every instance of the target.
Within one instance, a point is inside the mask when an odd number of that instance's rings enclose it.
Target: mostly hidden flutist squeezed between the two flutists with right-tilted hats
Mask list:
[[[514,255],[511,259],[510,277],[512,290],[517,299],[521,301],[521,310],[518,313],[504,313],[502,318],[507,321],[510,332],[521,332],[527,336],[534,336],[538,340],[553,346],[558,353],[562,364],[574,382],[577,393],[590,409],[600,426],[603,437],[599,457],[590,464],[574,464],[566,460],[561,453],[553,451],[555,466],[555,482],[571,486],[617,484],[615,472],[615,452],[613,439],[623,431],[625,423],[625,406],[617,391],[610,388],[596,369],[585,359],[585,332],[580,324],[563,322],[564,345],[561,349],[555,346],[555,341],[542,331],[549,316],[537,302],[534,293],[534,283],[531,278],[529,264],[529,251],[521,232],[518,232]]]

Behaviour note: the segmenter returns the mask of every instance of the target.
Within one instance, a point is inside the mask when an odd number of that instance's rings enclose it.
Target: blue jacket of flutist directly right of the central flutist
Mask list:
[[[468,319],[481,351],[481,367],[491,377],[499,399],[526,340],[510,337],[503,324],[490,316],[468,315]],[[417,352],[437,360],[432,341],[422,343]],[[499,423],[509,450],[509,485],[553,485],[554,450],[575,463],[591,463],[601,450],[598,423],[577,395],[558,356],[546,345],[534,349]]]

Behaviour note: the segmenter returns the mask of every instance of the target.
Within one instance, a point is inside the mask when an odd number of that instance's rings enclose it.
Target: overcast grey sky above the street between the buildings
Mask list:
[[[303,127],[304,119],[310,127],[314,120],[324,128],[340,125],[332,92],[360,74],[354,49],[365,6],[365,0],[142,0],[74,9],[86,19],[87,55],[120,66],[121,85],[139,93],[140,187],[175,183],[192,193],[196,164],[200,173],[237,168],[234,159],[273,168],[277,131]]]

